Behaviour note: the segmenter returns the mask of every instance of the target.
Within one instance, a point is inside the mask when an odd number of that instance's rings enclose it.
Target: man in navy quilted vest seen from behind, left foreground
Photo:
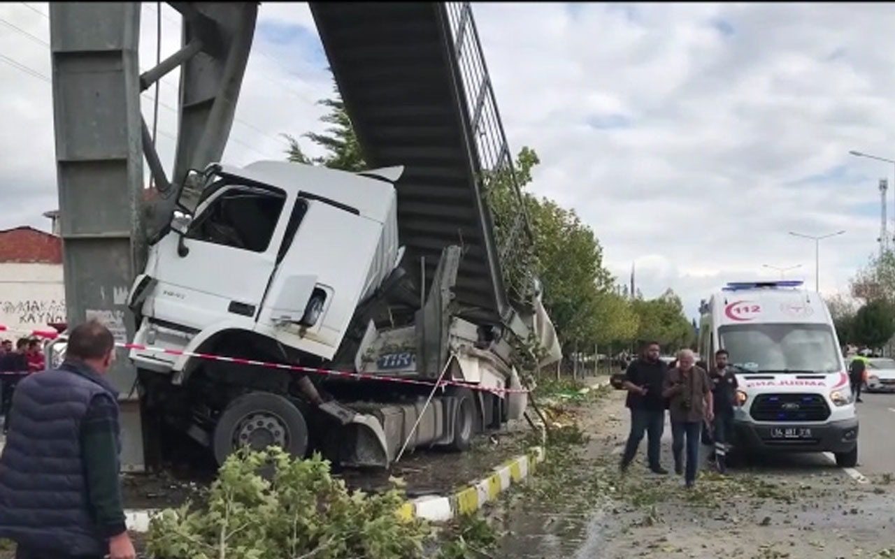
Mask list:
[[[56,369],[22,379],[0,456],[0,538],[17,559],[134,559],[118,479],[115,340],[91,320]]]

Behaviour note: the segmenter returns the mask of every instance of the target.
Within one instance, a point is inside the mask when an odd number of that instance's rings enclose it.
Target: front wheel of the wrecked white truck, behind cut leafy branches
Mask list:
[[[243,445],[256,451],[278,445],[302,458],[308,450],[308,425],[283,396],[251,392],[227,404],[217,419],[212,445],[218,465]]]

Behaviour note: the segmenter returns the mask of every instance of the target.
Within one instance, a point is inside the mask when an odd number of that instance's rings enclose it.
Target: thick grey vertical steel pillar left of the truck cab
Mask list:
[[[133,339],[125,306],[142,261],[138,3],[50,3],[56,176],[68,324],[99,318]],[[136,374],[119,349],[124,470],[143,470]]]

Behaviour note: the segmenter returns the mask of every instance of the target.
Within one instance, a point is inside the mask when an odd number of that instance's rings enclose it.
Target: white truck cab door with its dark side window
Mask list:
[[[286,198],[273,187],[237,183],[202,200],[185,233],[159,242],[155,318],[197,329],[253,323],[276,266]]]

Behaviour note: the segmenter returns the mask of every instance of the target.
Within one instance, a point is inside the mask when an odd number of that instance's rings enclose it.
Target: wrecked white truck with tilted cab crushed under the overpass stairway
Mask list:
[[[450,386],[425,405],[439,378],[520,388],[514,340],[534,335],[546,354],[541,364],[561,352],[540,295],[502,324],[475,321],[455,301],[459,246],[443,248],[424,301],[424,289],[408,289],[405,269],[419,264],[403,261],[398,244],[394,182],[402,172],[279,161],[192,171],[128,299],[139,325],[134,343],[156,348],[130,352],[144,421],[182,430],[217,462],[240,445],[277,444],[384,467],[405,442],[463,450],[475,433],[521,417],[521,392]],[[158,348],[429,384],[345,380]]]

